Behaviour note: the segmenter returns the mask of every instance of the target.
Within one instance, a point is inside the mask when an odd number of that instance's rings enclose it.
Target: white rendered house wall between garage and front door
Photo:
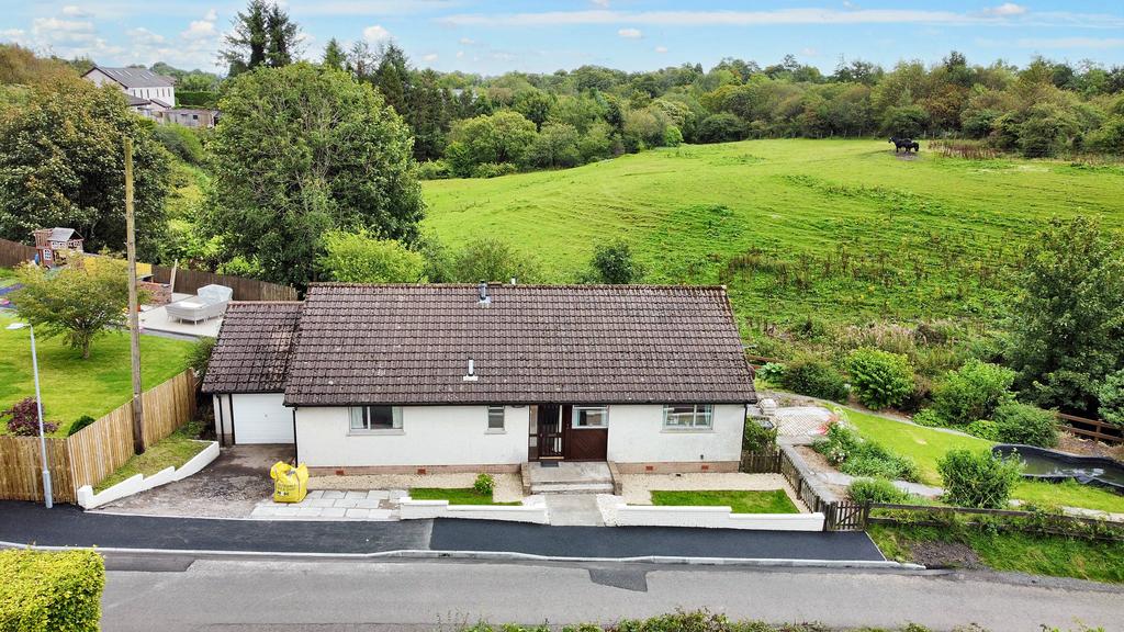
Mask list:
[[[297,450],[301,462],[318,468],[522,463],[528,410],[506,407],[505,431],[495,432],[487,406],[405,406],[400,431],[355,432],[345,406],[302,406]]]

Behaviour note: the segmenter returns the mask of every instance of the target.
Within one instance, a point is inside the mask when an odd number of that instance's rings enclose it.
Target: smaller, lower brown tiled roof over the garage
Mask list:
[[[203,378],[205,392],[281,392],[299,301],[232,301]]]

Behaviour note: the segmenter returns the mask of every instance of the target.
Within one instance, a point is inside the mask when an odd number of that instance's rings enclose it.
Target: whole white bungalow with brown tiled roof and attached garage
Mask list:
[[[756,401],[722,287],[325,283],[232,303],[203,390],[319,473],[736,471]]]

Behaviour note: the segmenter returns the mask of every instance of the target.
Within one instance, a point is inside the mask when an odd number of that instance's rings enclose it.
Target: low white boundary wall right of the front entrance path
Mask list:
[[[823,531],[824,514],[735,514],[729,507],[669,507],[627,505],[599,496],[605,524],[613,526],[691,526],[760,531]]]

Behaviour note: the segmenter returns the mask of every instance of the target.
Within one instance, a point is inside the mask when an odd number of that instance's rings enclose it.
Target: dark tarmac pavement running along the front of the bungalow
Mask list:
[[[374,553],[477,551],[564,557],[708,557],[882,561],[865,533],[542,526],[438,520],[303,522],[84,513],[72,505],[0,502],[0,541],[44,547]]]

